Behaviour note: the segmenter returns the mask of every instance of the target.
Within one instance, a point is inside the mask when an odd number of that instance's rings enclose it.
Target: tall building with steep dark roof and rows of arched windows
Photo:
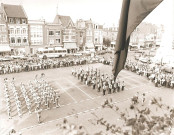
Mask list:
[[[14,54],[29,53],[28,18],[21,5],[2,4],[8,24],[10,47]]]

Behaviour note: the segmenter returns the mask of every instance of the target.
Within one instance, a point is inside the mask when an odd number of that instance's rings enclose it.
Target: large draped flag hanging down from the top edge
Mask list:
[[[115,79],[126,62],[130,34],[163,0],[123,0],[112,72]]]

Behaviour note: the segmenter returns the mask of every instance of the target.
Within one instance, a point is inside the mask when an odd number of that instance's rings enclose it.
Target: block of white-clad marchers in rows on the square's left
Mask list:
[[[34,81],[30,81],[27,85],[20,83],[19,89],[16,89],[16,84],[13,80],[10,82],[11,87],[8,86],[8,79],[4,79],[4,88],[5,92],[4,95],[6,97],[7,102],[7,112],[9,118],[12,118],[11,116],[11,102],[15,99],[16,107],[18,116],[22,117],[22,114],[24,113],[24,110],[22,110],[23,106],[26,105],[27,112],[31,114],[33,112],[33,108],[35,109],[35,112],[38,114],[39,110],[42,110],[46,107],[47,109],[51,109],[51,105],[55,107],[60,107],[59,101],[60,96],[57,91],[55,91],[52,86],[46,82],[43,77],[41,79],[35,78]],[[13,95],[9,95],[11,93]],[[11,97],[13,96],[13,97]],[[21,97],[24,99],[24,102],[22,102]],[[38,121],[40,121],[38,119]]]

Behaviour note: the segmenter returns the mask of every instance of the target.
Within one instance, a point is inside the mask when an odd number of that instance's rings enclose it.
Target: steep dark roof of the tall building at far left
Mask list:
[[[7,17],[27,18],[21,5],[4,4],[4,10],[7,14]]]

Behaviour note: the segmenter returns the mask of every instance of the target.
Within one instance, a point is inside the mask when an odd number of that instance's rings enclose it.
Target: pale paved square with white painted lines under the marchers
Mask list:
[[[87,65],[82,67],[86,69]],[[91,64],[90,67],[98,68],[101,72],[111,74],[111,66],[103,64]],[[14,127],[15,130],[22,132],[25,135],[35,134],[57,134],[55,125],[61,123],[64,118],[67,118],[71,123],[83,124],[86,126],[90,134],[100,131],[101,127],[94,127],[91,124],[95,112],[98,116],[105,117],[113,123],[114,119],[118,118],[118,114],[112,112],[109,109],[101,109],[101,104],[106,98],[112,98],[113,102],[121,106],[122,108],[128,107],[130,98],[137,92],[140,94],[146,93],[148,98],[153,96],[160,96],[167,104],[174,103],[174,91],[164,87],[155,88],[154,84],[149,82],[145,77],[141,77],[130,71],[123,70],[119,74],[120,81],[125,82],[125,91],[119,93],[113,93],[106,96],[102,96],[102,92],[93,90],[92,87],[86,86],[80,82],[77,77],[71,75],[72,67],[48,69],[42,71],[23,72],[18,74],[2,75],[0,78],[0,134],[3,135],[8,132],[10,127]],[[107,70],[106,70],[107,69]],[[16,105],[14,102],[13,94],[10,94],[12,102],[12,114],[13,119],[8,119],[6,111],[6,102],[4,93],[3,79],[12,77],[15,78],[15,84],[19,89],[21,82],[28,84],[29,80],[34,80],[36,75],[40,76],[41,73],[45,74],[45,80],[54,88],[55,91],[60,93],[60,108],[55,108],[55,105],[51,105],[50,110],[44,110],[42,113],[42,123],[37,123],[37,116],[35,113],[28,114],[26,105],[23,99],[22,102],[23,117],[19,118],[16,111]],[[146,103],[148,105],[148,103]],[[43,107],[43,109],[46,109]],[[32,106],[32,112],[34,112],[34,105]],[[76,117],[78,116],[78,117]],[[119,122],[118,122],[119,123]],[[39,131],[39,133],[38,133]]]

